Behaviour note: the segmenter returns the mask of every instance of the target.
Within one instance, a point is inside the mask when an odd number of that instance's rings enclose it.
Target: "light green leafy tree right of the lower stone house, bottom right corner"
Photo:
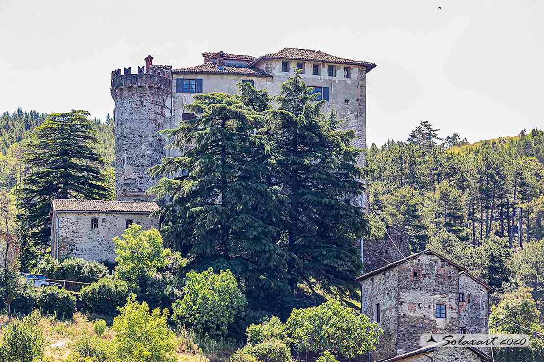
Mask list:
[[[532,362],[544,358],[544,326],[540,311],[531,296],[531,289],[521,287],[506,293],[497,306],[491,307],[489,327],[492,333],[528,334],[529,348],[497,348],[498,360]],[[533,331],[533,332],[531,332]]]

